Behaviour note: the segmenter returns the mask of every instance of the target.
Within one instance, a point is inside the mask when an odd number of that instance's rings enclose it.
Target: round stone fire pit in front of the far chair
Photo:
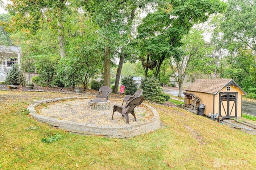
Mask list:
[[[92,110],[109,110],[110,101],[105,98],[95,98],[88,102],[88,107]]]

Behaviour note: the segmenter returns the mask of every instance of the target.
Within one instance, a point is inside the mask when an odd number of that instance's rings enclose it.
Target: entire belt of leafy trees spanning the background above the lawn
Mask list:
[[[233,78],[247,92],[256,93],[255,1],[11,2],[8,14],[0,15],[0,44],[22,47],[25,71],[32,59],[33,70],[56,64],[50,71],[55,75],[48,76],[66,86],[87,88],[94,77],[110,86],[114,77],[110,68],[116,67],[113,61],[118,58],[115,92],[122,74],[143,73],[145,78],[168,83],[171,74],[178,72],[180,91],[184,76],[190,75],[191,80]],[[199,29],[202,24],[209,29]],[[132,70],[122,71],[127,61]]]

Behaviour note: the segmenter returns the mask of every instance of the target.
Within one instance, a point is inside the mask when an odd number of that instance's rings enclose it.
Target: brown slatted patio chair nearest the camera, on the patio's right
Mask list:
[[[117,104],[114,105],[113,113],[112,113],[112,120],[114,116],[114,112],[118,111],[122,114],[122,116],[125,117],[126,123],[129,123],[129,116],[128,113],[131,113],[134,116],[134,120],[136,121],[136,117],[134,114],[134,107],[140,105],[144,100],[144,96],[138,96],[136,98],[133,98],[126,106],[119,106]]]

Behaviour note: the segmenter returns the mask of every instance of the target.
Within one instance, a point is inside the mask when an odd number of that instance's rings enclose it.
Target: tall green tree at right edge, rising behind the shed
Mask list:
[[[255,18],[255,1],[229,0],[221,24],[229,52],[221,75],[234,79],[250,96],[256,94]]]

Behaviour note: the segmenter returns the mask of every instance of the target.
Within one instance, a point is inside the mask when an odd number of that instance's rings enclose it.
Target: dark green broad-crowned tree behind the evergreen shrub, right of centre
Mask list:
[[[163,61],[176,58],[179,61],[184,53],[180,49],[182,38],[190,32],[195,23],[205,22],[214,13],[223,12],[226,4],[220,0],[162,0],[158,9],[148,14],[138,26],[138,38],[146,66],[150,61],[158,76]],[[142,62],[143,64],[143,62]],[[152,69],[152,68],[151,68]],[[146,77],[146,76],[145,76]]]

